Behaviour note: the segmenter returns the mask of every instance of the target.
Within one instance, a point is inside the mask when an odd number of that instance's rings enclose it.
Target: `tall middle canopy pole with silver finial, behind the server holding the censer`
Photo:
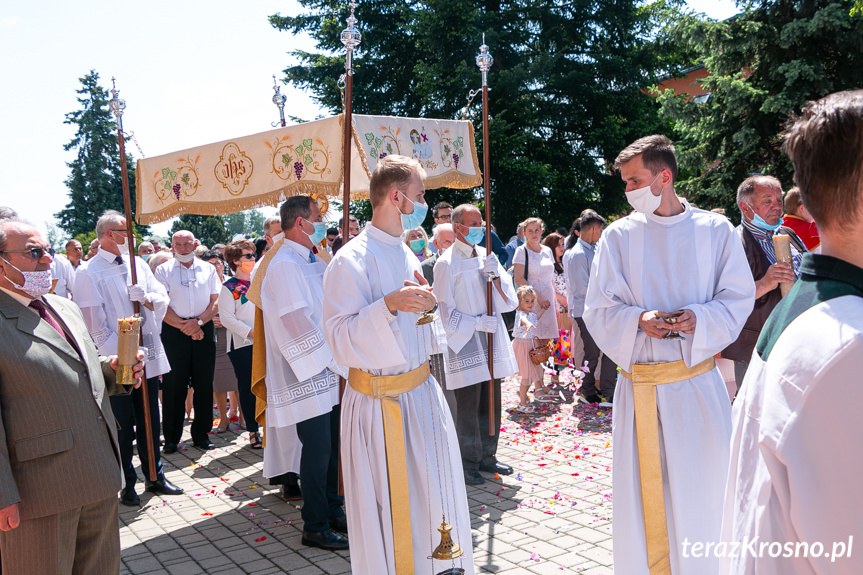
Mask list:
[[[357,19],[354,16],[354,10],[357,8],[356,2],[348,4],[351,8],[351,15],[348,16],[348,27],[342,30],[341,40],[345,46],[345,73],[339,79],[344,80],[344,140],[342,142],[342,247],[351,237],[351,225],[348,217],[350,216],[351,204],[351,139],[353,138],[353,97],[354,97],[354,50],[360,45],[362,35],[357,30]],[[341,83],[341,82],[340,82]],[[345,395],[345,378],[339,378],[339,405],[342,404],[342,398]],[[339,445],[341,450],[341,444]],[[344,479],[342,473],[342,458],[339,457],[339,494],[343,495],[345,491]]]

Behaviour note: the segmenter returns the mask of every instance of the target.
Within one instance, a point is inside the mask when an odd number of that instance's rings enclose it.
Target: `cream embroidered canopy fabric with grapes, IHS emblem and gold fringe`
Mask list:
[[[140,224],[182,213],[230,214],[276,205],[289,196],[342,196],[343,116],[334,116],[138,160]],[[425,186],[482,183],[468,121],[353,116],[351,198],[368,198],[369,177],[388,154],[417,159]]]

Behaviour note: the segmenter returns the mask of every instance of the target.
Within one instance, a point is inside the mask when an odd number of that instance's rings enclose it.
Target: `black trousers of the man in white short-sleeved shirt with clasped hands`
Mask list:
[[[201,329],[204,339],[194,341],[179,329],[162,324],[162,345],[171,362],[171,371],[162,376],[162,433],[165,443],[180,443],[186,415],[186,392],[190,384],[195,390],[192,441],[207,441],[207,434],[213,429],[216,330],[212,321]]]

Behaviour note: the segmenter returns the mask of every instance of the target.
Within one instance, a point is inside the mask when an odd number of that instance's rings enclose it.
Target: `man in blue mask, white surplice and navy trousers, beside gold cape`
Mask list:
[[[279,210],[284,241],[270,260],[261,286],[267,340],[267,446],[264,458],[280,457],[280,430],[302,442],[303,544],[347,549],[339,489],[339,375],[323,334],[326,263],[312,251],[326,229],[317,203],[292,196]],[[292,426],[296,426],[296,436]]]

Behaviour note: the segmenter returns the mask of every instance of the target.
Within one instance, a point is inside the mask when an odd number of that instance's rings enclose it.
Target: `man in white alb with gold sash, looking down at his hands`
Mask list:
[[[602,234],[583,315],[622,370],[612,420],[614,568],[715,575],[718,559],[681,550],[685,540],[719,535],[731,404],[713,356],[740,332],[755,284],[728,220],[674,193],[668,138],[636,141],[615,167],[636,213]],[[667,339],[673,330],[684,339]]]

